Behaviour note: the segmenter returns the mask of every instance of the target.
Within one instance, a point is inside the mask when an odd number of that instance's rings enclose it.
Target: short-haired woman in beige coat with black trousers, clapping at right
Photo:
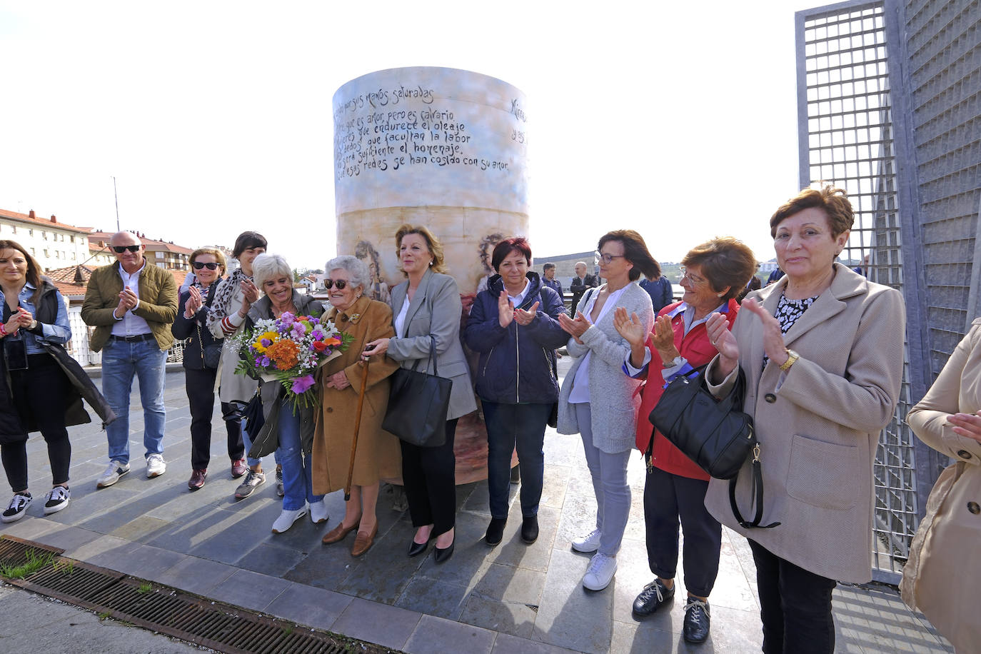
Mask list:
[[[705,506],[749,538],[767,653],[833,652],[836,579],[872,578],[872,465],[899,398],[905,311],[899,291],[835,263],[852,222],[844,191],[801,191],[770,219],[787,275],[749,293],[732,331],[722,314],[708,322],[719,350],[706,370],[712,392],[731,391],[737,366],[746,374],[762,520],[741,524],[721,479]],[[735,488],[747,517],[751,481],[747,461]]]

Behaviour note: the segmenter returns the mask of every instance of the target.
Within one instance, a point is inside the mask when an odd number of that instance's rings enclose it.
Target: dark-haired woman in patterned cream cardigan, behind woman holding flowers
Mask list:
[[[238,260],[239,267],[232,271],[232,275],[219,283],[218,290],[215,291],[215,299],[208,311],[208,330],[216,338],[225,338],[218,397],[222,402],[228,402],[232,405],[238,418],[241,417],[245,405],[255,395],[259,383],[245,375],[235,375],[235,368],[238,366],[238,352],[233,344],[234,339],[230,336],[241,333],[249,309],[258,302],[262,294],[259,287],[252,281],[252,262],[266,251],[266,246],[266,237],[257,231],[243,231],[238,234],[232,249],[232,257]],[[252,448],[252,442],[248,437],[248,432],[244,429],[244,424],[241,433],[242,445],[245,453],[248,454]],[[245,475],[245,480],[235,488],[236,500],[248,497],[256,488],[266,482],[266,474],[262,471],[262,459],[248,457],[247,461],[247,471],[240,459],[232,463],[232,478]],[[282,496],[283,491],[280,490],[281,475],[280,471],[277,470],[277,491]]]

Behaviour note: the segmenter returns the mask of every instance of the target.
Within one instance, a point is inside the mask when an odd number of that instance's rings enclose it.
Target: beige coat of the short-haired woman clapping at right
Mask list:
[[[758,291],[772,315],[787,277]],[[742,528],[729,505],[729,482],[709,482],[715,518],[768,551],[829,579],[872,578],[872,464],[879,431],[893,417],[903,377],[903,296],[835,264],[831,286],[784,335],[800,360],[787,372],[762,370],[759,318],[741,311],[733,327],[747,377],[744,410],[753,417],[763,472],[762,525]],[[718,357],[709,366],[714,369]],[[728,393],[735,373],[719,387]],[[749,461],[736,490],[750,511]]]

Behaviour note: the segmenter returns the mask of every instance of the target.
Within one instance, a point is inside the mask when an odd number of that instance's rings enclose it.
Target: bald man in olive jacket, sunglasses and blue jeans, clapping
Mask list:
[[[81,319],[95,327],[89,346],[102,351],[102,394],[118,419],[106,427],[109,467],[97,487],[129,473],[129,390],[139,377],[143,405],[146,476],[159,477],[164,464],[164,374],[174,343],[171,325],[178,313],[178,288],[170,272],[148,263],[144,246],[129,231],[110,240],[117,263],[92,273],[81,305]]]

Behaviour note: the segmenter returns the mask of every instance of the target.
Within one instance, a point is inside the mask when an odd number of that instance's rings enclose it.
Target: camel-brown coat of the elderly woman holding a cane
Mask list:
[[[345,312],[329,310],[324,318],[334,321],[340,331],[354,336],[346,352],[328,362],[318,377],[320,416],[313,435],[310,473],[313,492],[321,495],[344,487],[351,461],[351,439],[357,416],[358,393],[364,366],[359,364],[365,343],[376,338],[390,338],[391,309],[384,302],[362,295]],[[398,478],[402,472],[398,439],[382,429],[388,405],[388,376],[398,364],[387,357],[375,357],[368,367],[361,428],[354,457],[352,483],[370,486],[380,479]],[[343,371],[351,385],[343,390],[327,387],[327,378]]]

